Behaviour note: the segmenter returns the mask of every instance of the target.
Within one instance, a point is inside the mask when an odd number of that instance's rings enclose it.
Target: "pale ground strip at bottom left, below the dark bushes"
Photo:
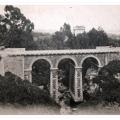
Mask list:
[[[0,105],[1,115],[58,115],[59,107],[51,105],[27,105],[19,104]]]

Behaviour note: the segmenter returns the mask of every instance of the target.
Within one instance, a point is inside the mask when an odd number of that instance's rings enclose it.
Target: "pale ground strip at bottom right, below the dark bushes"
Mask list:
[[[103,106],[101,103],[81,103],[77,105],[73,115],[120,115],[120,107]]]

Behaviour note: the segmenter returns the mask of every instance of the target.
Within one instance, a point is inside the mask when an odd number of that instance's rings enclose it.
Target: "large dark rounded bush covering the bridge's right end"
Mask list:
[[[100,88],[98,92],[99,99],[120,103],[120,82],[115,78],[117,73],[120,73],[119,60],[111,61],[101,68],[98,77],[94,79],[94,83],[97,83]]]

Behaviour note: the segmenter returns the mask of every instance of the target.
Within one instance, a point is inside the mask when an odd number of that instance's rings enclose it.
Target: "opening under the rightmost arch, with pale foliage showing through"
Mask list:
[[[93,79],[98,74],[99,63],[97,59],[88,57],[82,64],[82,80],[83,80],[83,97],[86,100],[91,99],[96,91],[97,86],[93,83]],[[92,96],[92,97],[91,97]]]

